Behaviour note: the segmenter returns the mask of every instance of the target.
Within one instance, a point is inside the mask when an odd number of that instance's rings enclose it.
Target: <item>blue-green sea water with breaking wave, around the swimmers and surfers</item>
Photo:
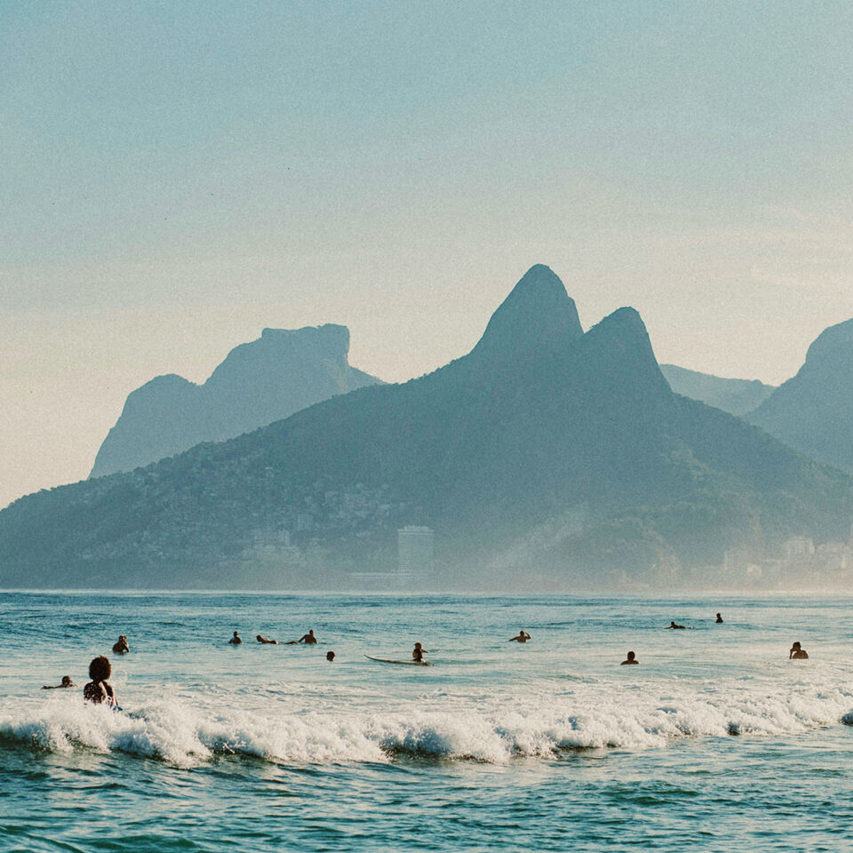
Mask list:
[[[853,849],[853,600],[4,593],[0,624],[4,851]],[[121,713],[83,703],[100,654]]]

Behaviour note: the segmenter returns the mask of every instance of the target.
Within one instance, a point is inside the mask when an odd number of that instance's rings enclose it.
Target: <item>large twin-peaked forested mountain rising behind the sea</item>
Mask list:
[[[419,525],[439,586],[672,588],[731,546],[844,536],[851,511],[844,474],[675,395],[633,308],[584,334],[537,266],[434,373],[21,498],[0,586],[351,588]]]

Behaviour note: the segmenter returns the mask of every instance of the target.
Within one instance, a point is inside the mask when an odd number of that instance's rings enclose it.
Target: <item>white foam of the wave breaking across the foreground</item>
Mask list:
[[[851,721],[849,686],[731,681],[713,689],[660,683],[581,685],[518,698],[423,698],[385,713],[293,712],[281,700],[241,709],[158,700],[134,713],[45,699],[34,712],[0,710],[0,744],[128,753],[188,766],[216,755],[283,763],[393,761],[399,756],[506,763],[565,750],[666,746],[684,737],[784,736]],[[0,745],[2,748],[2,745]]]

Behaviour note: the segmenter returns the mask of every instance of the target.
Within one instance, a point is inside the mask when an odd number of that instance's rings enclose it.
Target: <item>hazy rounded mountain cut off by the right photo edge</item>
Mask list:
[[[801,453],[853,471],[853,320],[822,331],[797,375],[747,419]]]

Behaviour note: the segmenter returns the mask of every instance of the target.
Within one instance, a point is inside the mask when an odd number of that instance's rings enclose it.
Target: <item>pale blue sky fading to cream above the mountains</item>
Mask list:
[[[846,2],[0,3],[0,506],[133,388],[343,323],[410,379],[535,263],[777,384],[853,317]]]

